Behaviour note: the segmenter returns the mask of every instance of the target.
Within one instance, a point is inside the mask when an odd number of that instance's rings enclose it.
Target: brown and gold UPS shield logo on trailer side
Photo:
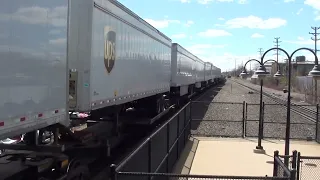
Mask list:
[[[110,73],[116,60],[116,32],[109,26],[104,27],[104,65]]]

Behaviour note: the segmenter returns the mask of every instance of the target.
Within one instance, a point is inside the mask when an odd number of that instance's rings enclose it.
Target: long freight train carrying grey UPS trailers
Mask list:
[[[28,148],[41,130],[80,116],[118,129],[128,108],[158,115],[222,80],[221,69],[115,0],[12,0],[0,13],[0,139],[25,134]]]

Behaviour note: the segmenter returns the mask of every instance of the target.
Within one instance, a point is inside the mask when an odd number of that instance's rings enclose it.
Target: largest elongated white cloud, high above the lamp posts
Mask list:
[[[256,16],[239,17],[226,21],[224,25],[227,28],[250,28],[250,29],[275,29],[285,26],[287,21],[281,18],[262,19]]]

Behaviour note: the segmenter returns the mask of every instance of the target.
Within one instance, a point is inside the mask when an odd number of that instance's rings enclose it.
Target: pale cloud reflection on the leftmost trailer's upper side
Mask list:
[[[67,7],[60,6],[55,8],[43,8],[38,6],[19,8],[13,14],[0,14],[0,20],[3,21],[20,21],[27,24],[49,23],[56,27],[62,27],[67,22]]]

